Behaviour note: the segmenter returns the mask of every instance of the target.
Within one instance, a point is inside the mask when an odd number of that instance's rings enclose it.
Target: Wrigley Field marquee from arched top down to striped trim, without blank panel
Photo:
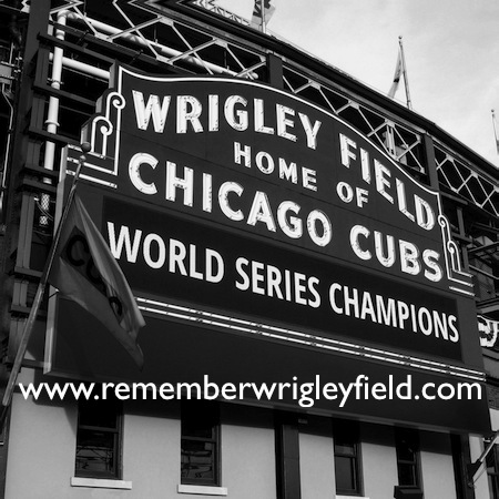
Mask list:
[[[477,357],[438,193],[336,115],[252,81],[116,67],[83,132],[83,201],[151,316]]]

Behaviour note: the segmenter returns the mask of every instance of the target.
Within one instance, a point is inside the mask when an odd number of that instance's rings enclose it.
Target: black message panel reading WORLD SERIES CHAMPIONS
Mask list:
[[[114,256],[141,294],[460,359],[456,301],[319,257],[105,200]],[[223,305],[222,305],[223,304]]]

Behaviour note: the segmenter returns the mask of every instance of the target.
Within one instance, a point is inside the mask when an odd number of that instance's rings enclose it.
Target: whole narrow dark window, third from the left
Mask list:
[[[334,421],[336,493],[361,495],[360,446],[358,426],[353,421]]]

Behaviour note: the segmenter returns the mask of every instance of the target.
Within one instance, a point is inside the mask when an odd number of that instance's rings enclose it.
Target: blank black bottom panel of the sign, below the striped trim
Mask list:
[[[461,379],[152,316],[146,316],[147,326],[140,340],[145,357],[141,373],[126,353],[116,348],[111,335],[105,334],[96,319],[71,302],[60,302],[57,327],[61,333],[53,357],[55,374],[70,373],[73,377],[116,383],[154,383],[157,387],[184,384],[185,389],[190,384],[202,389],[206,385],[210,396],[214,394],[215,385],[237,387],[240,384],[255,384],[258,390],[263,384],[271,388],[275,383],[285,387],[281,394],[275,389],[271,397],[258,399],[255,391],[245,389],[245,398],[241,403],[446,431],[490,431],[483,384],[475,384],[481,387],[481,399],[477,399],[475,386],[472,399],[452,397],[445,400],[435,396],[440,384],[446,385],[445,395],[458,394]],[[346,387],[355,383],[358,383],[358,388],[352,385],[348,397],[340,390],[334,399],[324,396],[327,384]],[[468,383],[473,384],[471,380]],[[376,384],[383,384],[386,390],[378,390],[373,396],[371,388]],[[434,399],[419,395],[427,384],[430,384],[428,394]],[[294,386],[297,387],[295,393]],[[306,391],[301,391],[303,387],[307,388]],[[196,388],[194,385],[192,388],[195,396]],[[122,390],[122,395],[126,393]],[[462,394],[468,394],[468,390]],[[232,397],[234,393],[227,391],[226,395]]]

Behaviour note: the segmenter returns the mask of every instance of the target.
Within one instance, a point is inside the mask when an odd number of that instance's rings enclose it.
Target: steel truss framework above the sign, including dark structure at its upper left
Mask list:
[[[160,0],[112,0],[105,6],[99,0],[52,2],[49,34],[41,34],[39,64],[52,68],[57,48],[62,50],[60,86],[50,81],[47,69],[41,73],[47,80],[35,82],[35,90],[39,109],[47,108],[47,94],[58,99],[58,126],[52,126],[50,134],[57,135],[59,144],[64,141],[78,144],[80,128],[94,112],[94,102],[108,86],[110,68],[115,60],[156,74],[223,74],[267,81],[269,50],[264,43],[255,42],[265,40],[262,33],[247,39],[231,34],[207,21],[172,10],[169,4]],[[196,0],[192,4],[245,24],[217,8],[214,0]],[[275,42],[275,38],[272,40]],[[279,58],[278,52],[272,52]],[[285,90],[338,115],[370,138],[415,177],[430,183],[425,130],[332,79],[309,71],[289,57],[279,59]],[[45,115],[43,123],[47,121],[54,124]],[[44,141],[50,142],[47,130],[39,134],[39,139],[44,136]],[[493,179],[436,139],[432,144],[442,190],[458,194],[497,220],[499,189]]]

